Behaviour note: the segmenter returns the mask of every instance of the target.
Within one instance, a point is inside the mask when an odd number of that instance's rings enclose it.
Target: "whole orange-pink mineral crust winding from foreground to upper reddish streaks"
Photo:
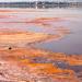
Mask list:
[[[0,10],[1,13],[19,13],[22,10]],[[23,10],[23,12],[27,12]],[[34,11],[30,11],[34,12]],[[0,20],[10,15],[0,15]],[[19,16],[17,16],[19,17]],[[13,20],[13,17],[11,17]],[[35,43],[59,40],[70,34],[66,26],[55,28],[48,22],[61,22],[60,17],[35,17],[27,22],[38,27],[52,28],[57,34],[0,28],[0,81],[1,82],[81,82],[71,66],[82,66],[82,55],[67,55],[35,48]],[[1,22],[0,22],[1,23]],[[3,22],[8,25],[16,22]],[[16,23],[17,24],[17,23]],[[67,68],[60,68],[59,65]],[[82,72],[82,71],[81,71]]]

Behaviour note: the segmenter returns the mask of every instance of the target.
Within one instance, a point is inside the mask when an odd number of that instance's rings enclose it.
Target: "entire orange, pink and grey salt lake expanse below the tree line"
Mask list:
[[[38,79],[50,82],[49,79],[55,77],[52,82],[75,82],[75,80],[81,82],[82,9],[7,9],[13,12],[1,10],[3,12],[0,11],[0,30],[5,31],[5,33],[0,32],[2,40],[2,44],[0,40],[0,69],[3,71],[0,74],[1,79],[20,77],[30,82],[32,79],[34,82]],[[20,35],[14,31],[23,33]],[[32,32],[32,34],[25,34],[25,32]],[[42,34],[36,36],[37,33],[43,33],[43,36]],[[59,37],[46,39],[49,35],[59,35]],[[23,42],[20,43],[21,40]]]

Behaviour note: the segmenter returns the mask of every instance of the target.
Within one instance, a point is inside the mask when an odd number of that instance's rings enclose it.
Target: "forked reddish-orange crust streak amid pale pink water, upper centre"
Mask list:
[[[63,21],[63,19],[60,17],[36,17],[34,20],[25,20],[25,23],[32,23],[32,24],[36,24],[36,25],[43,25],[43,26],[47,26],[47,27],[52,27],[48,22],[60,22]]]

